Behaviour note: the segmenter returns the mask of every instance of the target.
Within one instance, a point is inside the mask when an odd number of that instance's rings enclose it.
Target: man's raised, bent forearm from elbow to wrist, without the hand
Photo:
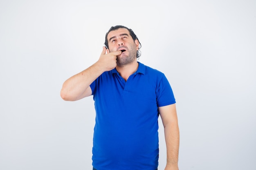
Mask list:
[[[84,71],[67,79],[61,89],[61,97],[66,101],[76,101],[91,95],[90,84],[99,77],[104,70],[97,62]]]

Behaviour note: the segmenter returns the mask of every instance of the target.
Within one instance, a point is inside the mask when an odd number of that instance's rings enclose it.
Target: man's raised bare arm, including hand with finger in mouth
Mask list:
[[[76,101],[92,95],[90,84],[92,84],[92,82],[103,72],[115,68],[117,65],[117,55],[120,54],[121,51],[106,54],[106,48],[103,47],[101,56],[95,64],[84,71],[73,75],[63,83],[61,98],[66,101]]]

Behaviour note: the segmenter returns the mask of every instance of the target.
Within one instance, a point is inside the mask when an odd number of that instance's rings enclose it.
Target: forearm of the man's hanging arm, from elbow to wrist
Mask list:
[[[176,167],[178,163],[180,132],[177,122],[169,122],[164,126],[166,141],[167,163],[166,166]]]

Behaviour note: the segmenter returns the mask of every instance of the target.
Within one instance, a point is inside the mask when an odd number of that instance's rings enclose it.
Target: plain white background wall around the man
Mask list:
[[[255,0],[1,0],[0,170],[92,169],[93,99],[60,90],[117,24],[173,88],[180,170],[255,170]]]

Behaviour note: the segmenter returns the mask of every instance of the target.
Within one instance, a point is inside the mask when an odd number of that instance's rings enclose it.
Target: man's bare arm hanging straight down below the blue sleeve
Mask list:
[[[180,131],[178,126],[176,105],[171,104],[158,108],[164,125],[164,136],[167,150],[165,170],[179,170],[178,155],[180,146]]]

